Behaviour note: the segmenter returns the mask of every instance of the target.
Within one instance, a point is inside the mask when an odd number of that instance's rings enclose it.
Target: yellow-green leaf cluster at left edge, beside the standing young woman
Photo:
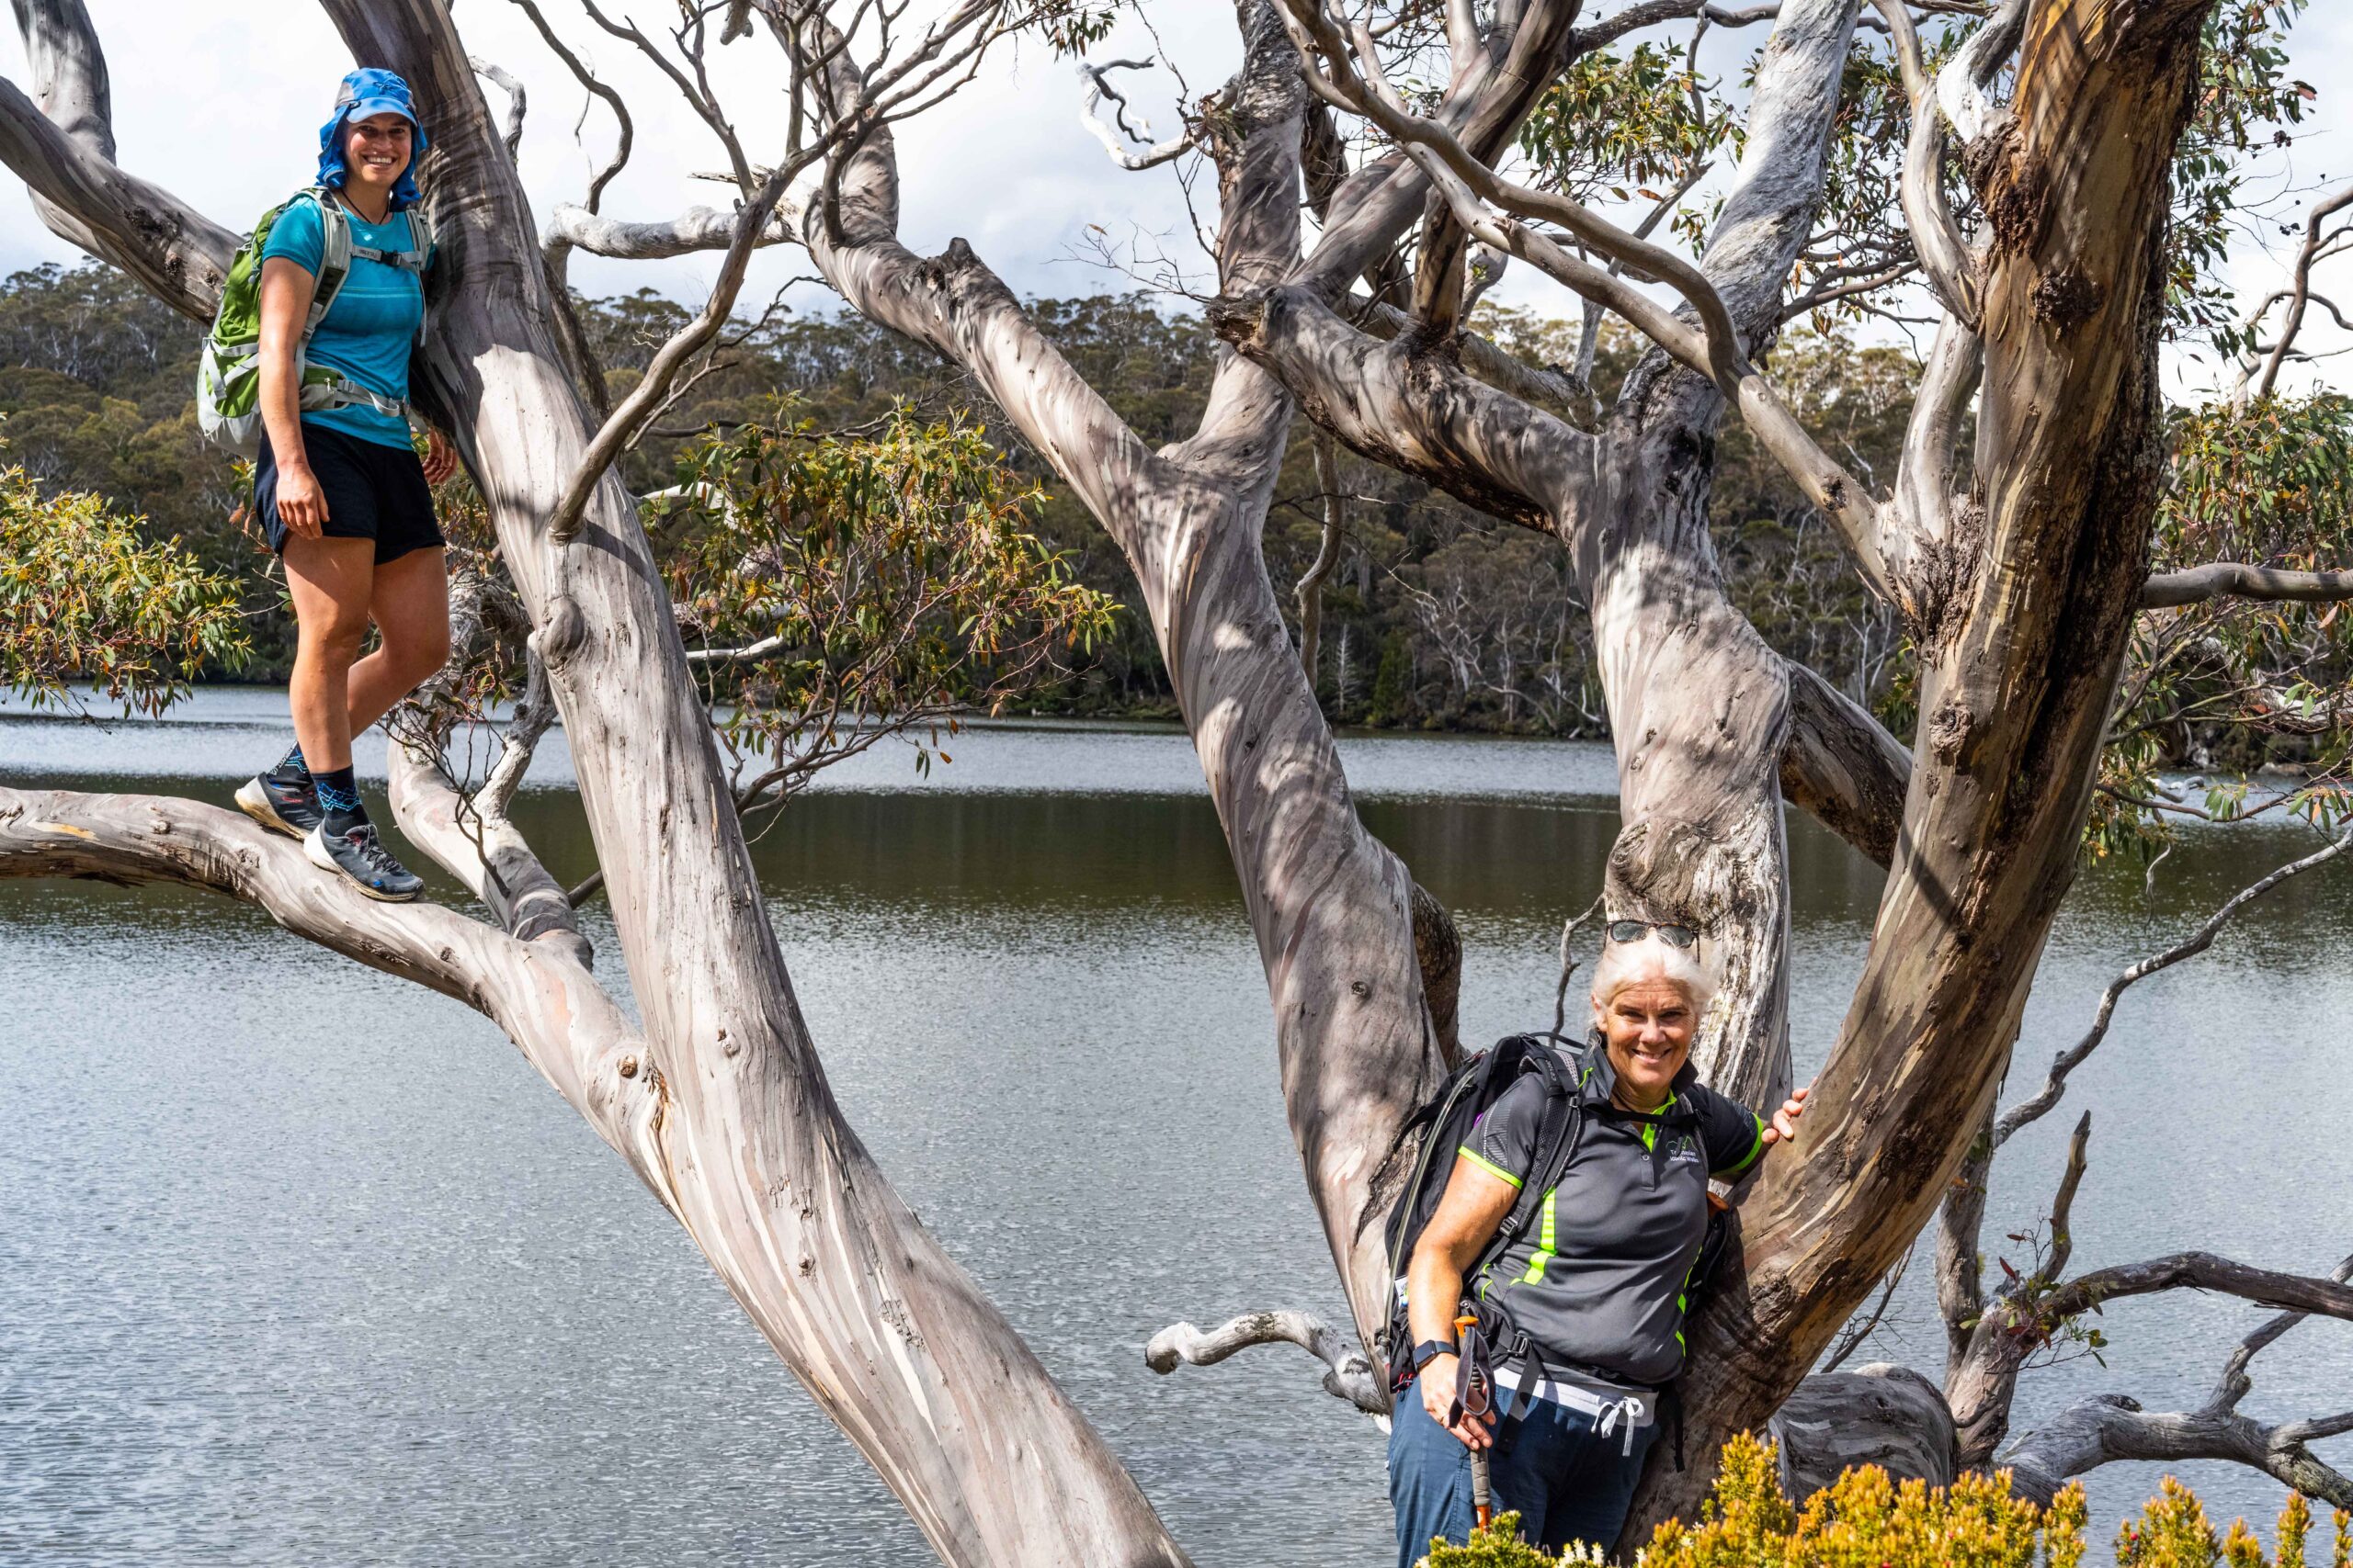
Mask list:
[[[252,651],[238,583],[205,571],[179,541],[82,491],[42,496],[0,468],[0,682],[35,708],[73,703],[92,682],[125,712],[162,712],[205,668]]]

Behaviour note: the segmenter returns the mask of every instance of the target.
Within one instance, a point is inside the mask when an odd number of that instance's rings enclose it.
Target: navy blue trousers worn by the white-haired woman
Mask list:
[[[1522,1415],[1522,1410],[1527,1410]],[[1657,1425],[1598,1434],[1595,1418],[1548,1399],[1511,1401],[1489,1448],[1494,1512],[1520,1514],[1520,1533],[1548,1552],[1617,1542]],[[1414,1568],[1431,1537],[1471,1540],[1471,1450],[1421,1408],[1421,1382],[1398,1394],[1388,1432],[1388,1502],[1398,1509],[1398,1568]]]

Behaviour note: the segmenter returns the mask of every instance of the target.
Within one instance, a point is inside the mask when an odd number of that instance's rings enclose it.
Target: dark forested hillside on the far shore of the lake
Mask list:
[[[685,310],[649,289],[576,299],[614,395],[642,374]],[[1146,440],[1172,442],[1200,414],[1207,327],[1148,296],[1049,299],[1038,324]],[[1482,310],[1480,327],[1537,364],[1574,357],[1574,322]],[[0,280],[0,465],[45,491],[92,491],[176,536],[207,567],[247,583],[256,658],[240,679],[278,679],[292,656],[280,576],[245,515],[238,468],[205,447],[191,388],[200,329],[108,266],[40,266]],[[1607,407],[1631,355],[1605,336],[1595,407]],[[1777,369],[1800,416],[1857,473],[1892,473],[1915,362],[1892,348],[1793,331]],[[1174,717],[1174,696],[1118,548],[1056,484],[984,397],[929,353],[856,320],[769,313],[739,322],[720,355],[628,458],[638,491],[675,470],[713,428],[812,421],[873,425],[904,400],[925,414],[967,409],[1012,468],[1042,491],[1038,536],[1078,581],[1120,599],[1111,637],[1066,656],[1066,675],[1024,705],[1047,715]],[[1904,722],[1908,654],[1892,616],[1864,592],[1835,536],[1739,423],[1718,435],[1711,520],[1741,611],[1781,651],[1849,696]],[[1322,590],[1318,693],[1341,724],[1602,736],[1591,628],[1567,552],[1391,470],[1341,454],[1346,536]],[[1297,583],[1322,538],[1311,435],[1297,425],[1266,527],[1278,588]],[[1297,637],[1294,602],[1285,616]],[[212,672],[216,679],[226,672]]]

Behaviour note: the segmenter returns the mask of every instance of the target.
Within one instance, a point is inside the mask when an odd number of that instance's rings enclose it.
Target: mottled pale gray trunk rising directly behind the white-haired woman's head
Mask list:
[[[1842,0],[1791,0],[1758,63],[1748,146],[1701,270],[1762,355],[1812,233],[1854,38]],[[1725,592],[1708,536],[1725,400],[1652,350],[1600,442],[1598,480],[1560,517],[1593,607],[1619,764],[1609,910],[1697,922],[1718,1004],[1692,1060],[1748,1105],[1774,1105],[1788,1060],[1788,842],[1781,757],[1788,675]]]

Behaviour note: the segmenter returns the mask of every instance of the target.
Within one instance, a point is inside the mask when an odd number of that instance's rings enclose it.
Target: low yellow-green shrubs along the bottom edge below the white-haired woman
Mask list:
[[[1781,1493],[1779,1450],[1753,1436],[1725,1446],[1715,1495],[1697,1523],[1668,1521],[1635,1568],[2082,1568],[2082,1486],[2047,1509],[2014,1497],[2005,1476],[1962,1476],[1946,1488],[1894,1481],[1878,1465],[1849,1469],[1802,1507]],[[2337,1512],[2329,1568],[2353,1568],[2353,1516]],[[2198,1497],[2165,1490],[2115,1535],[2118,1568],[2320,1568],[2306,1556],[2313,1509],[2289,1495],[2275,1556],[2245,1521],[2217,1540]],[[1609,1559],[1591,1547],[1553,1556],[1520,1540],[1520,1516],[1497,1514],[1468,1544],[1433,1542],[1421,1568],[1581,1568]]]

